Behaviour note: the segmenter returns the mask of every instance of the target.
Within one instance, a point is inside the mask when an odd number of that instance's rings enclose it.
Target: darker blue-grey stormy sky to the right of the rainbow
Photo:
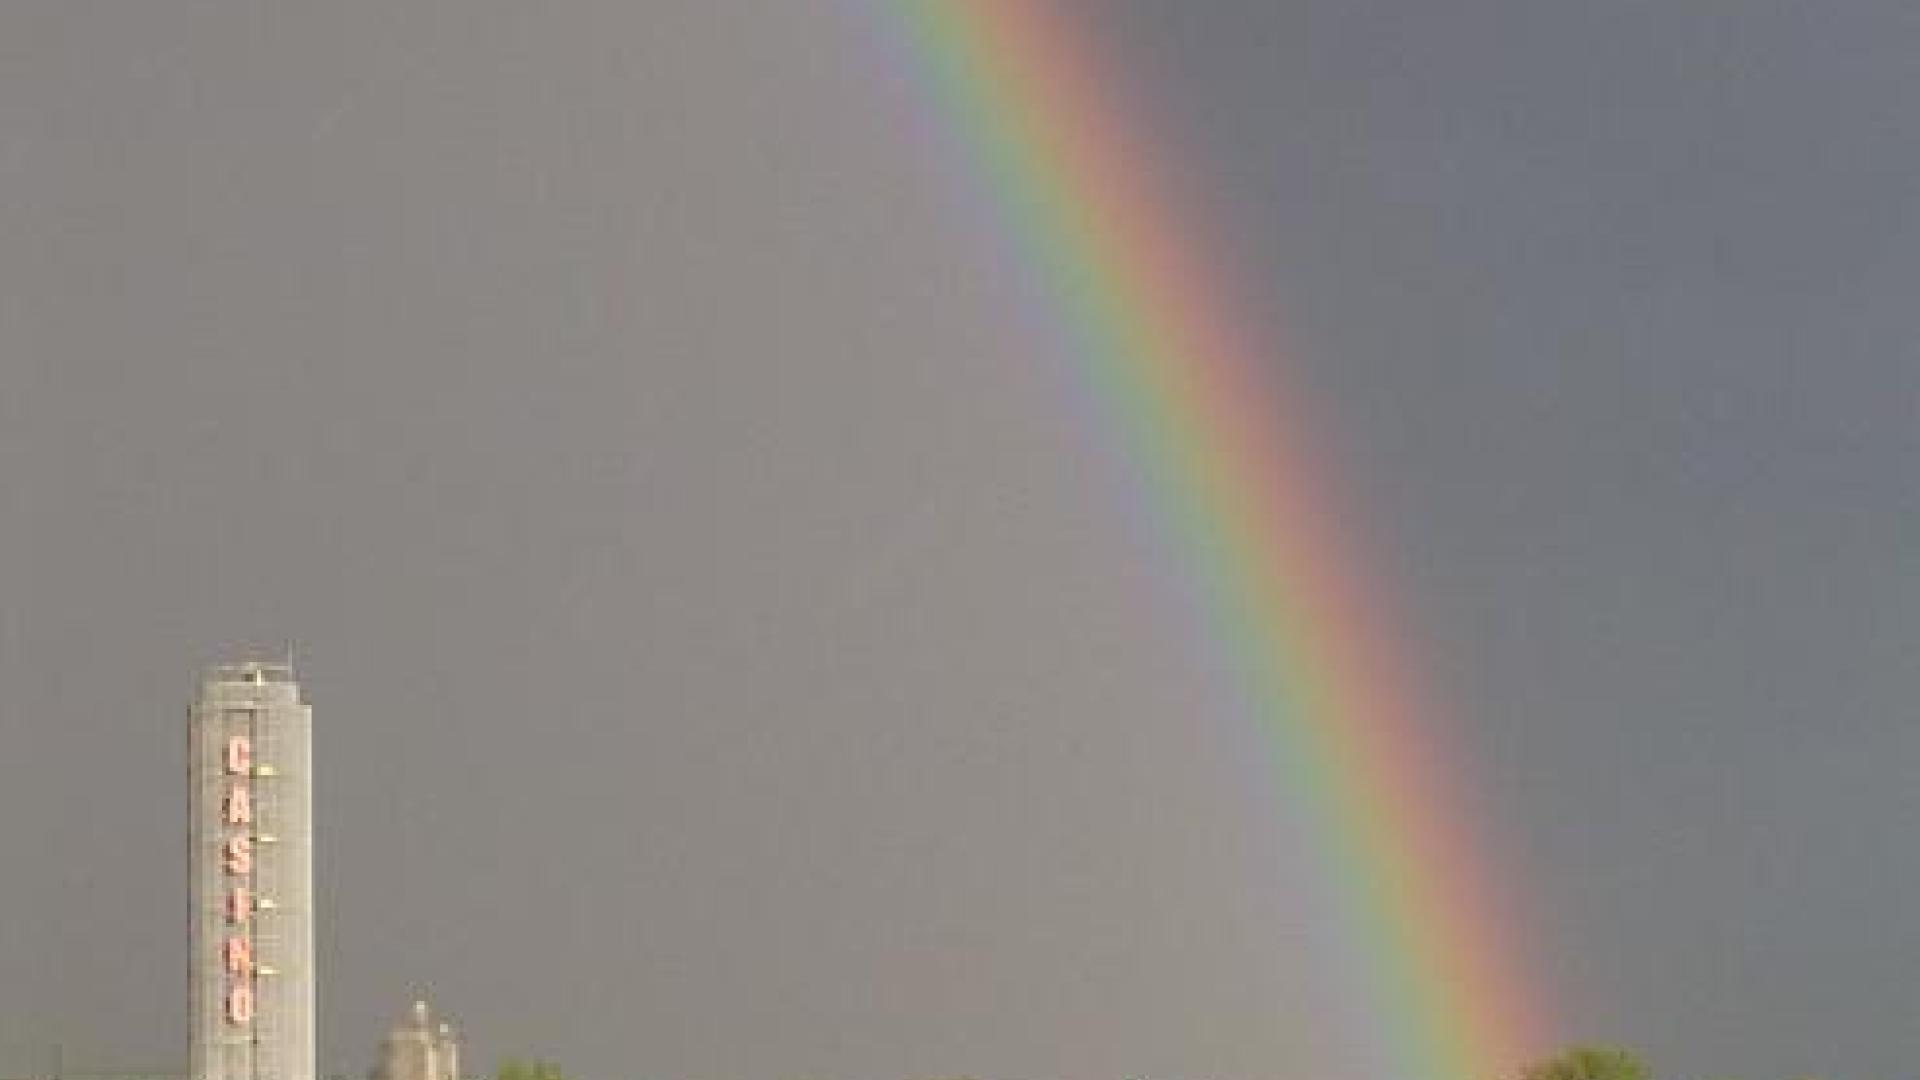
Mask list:
[[[1131,6],[1530,849],[1569,1034],[1893,1076],[1920,19]]]

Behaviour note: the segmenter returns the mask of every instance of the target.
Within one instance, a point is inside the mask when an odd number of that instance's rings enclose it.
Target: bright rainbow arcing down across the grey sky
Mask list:
[[[1507,892],[1313,461],[1300,394],[1183,227],[1140,110],[1050,0],[881,0],[1258,713],[1400,1078],[1496,1080],[1549,1043]],[[1294,409],[1288,413],[1286,409]],[[1369,1078],[1369,1080],[1386,1080]]]

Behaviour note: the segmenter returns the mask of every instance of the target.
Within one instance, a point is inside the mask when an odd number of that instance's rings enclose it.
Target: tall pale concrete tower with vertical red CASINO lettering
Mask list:
[[[286,663],[188,715],[188,1078],[313,1078],[313,709]]]

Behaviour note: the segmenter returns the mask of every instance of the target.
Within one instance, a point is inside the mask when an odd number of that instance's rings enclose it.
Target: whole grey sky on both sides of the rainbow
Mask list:
[[[1920,13],[1077,4],[1284,325],[1569,1036],[1910,1070]],[[0,8],[0,1070],[177,1061],[294,642],[323,1065],[1286,1076],[1284,801],[837,4]],[[1332,1057],[1329,1057],[1332,1055]]]

